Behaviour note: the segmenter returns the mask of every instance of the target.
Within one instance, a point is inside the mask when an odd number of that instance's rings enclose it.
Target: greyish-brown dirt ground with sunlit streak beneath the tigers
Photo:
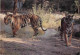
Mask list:
[[[54,29],[45,33],[39,30],[40,34],[34,38],[32,29],[20,31],[15,38],[7,32],[0,36],[0,55],[77,55],[80,52],[80,39],[73,38],[72,45],[67,47]]]

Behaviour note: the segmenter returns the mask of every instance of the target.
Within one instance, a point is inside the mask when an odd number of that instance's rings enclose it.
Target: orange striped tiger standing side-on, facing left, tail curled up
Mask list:
[[[34,30],[34,35],[38,35],[38,27],[41,27],[43,31],[46,31],[47,29],[43,29],[42,27],[42,20],[39,16],[37,15],[32,15],[32,14],[27,14],[27,15],[6,15],[4,17],[4,23],[11,24],[12,32],[13,32],[13,37],[15,37],[16,32],[25,26],[27,26],[27,23],[30,23],[33,30]]]

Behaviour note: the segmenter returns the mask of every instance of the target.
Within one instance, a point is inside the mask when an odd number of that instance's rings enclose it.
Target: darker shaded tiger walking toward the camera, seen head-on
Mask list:
[[[71,38],[73,33],[73,16],[74,15],[67,15],[61,19],[61,27],[60,28],[60,36],[61,40],[63,40],[63,36],[65,37],[65,42],[67,46],[71,45]]]

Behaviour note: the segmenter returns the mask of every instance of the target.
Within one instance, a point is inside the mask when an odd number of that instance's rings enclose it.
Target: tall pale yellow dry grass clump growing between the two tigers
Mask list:
[[[34,5],[32,11],[30,13],[36,14],[42,18],[43,26],[45,28],[57,28],[58,26],[60,26],[60,20],[56,20],[64,16],[62,14],[52,13],[51,8],[46,11],[44,10],[44,8],[41,8],[40,5],[38,6],[38,8],[36,8],[36,6]]]

